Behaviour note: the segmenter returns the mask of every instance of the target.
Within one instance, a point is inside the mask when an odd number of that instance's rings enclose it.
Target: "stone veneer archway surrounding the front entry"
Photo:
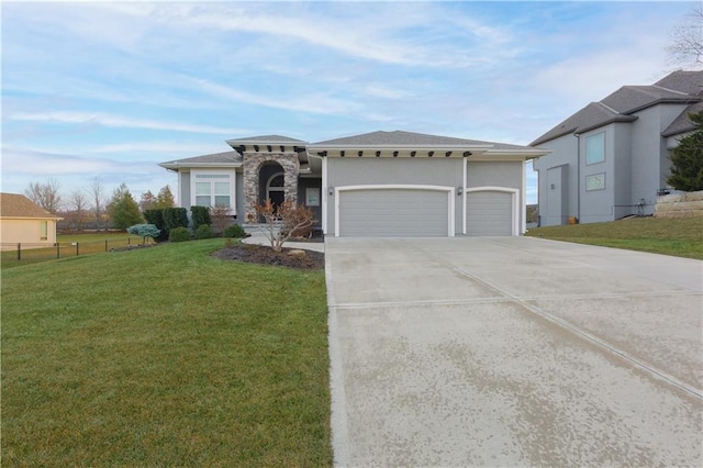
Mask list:
[[[253,203],[259,200],[259,172],[264,163],[272,160],[283,168],[283,196],[286,200],[298,202],[298,174],[300,161],[298,153],[244,153],[244,222],[256,220]],[[256,222],[256,221],[254,221]]]

